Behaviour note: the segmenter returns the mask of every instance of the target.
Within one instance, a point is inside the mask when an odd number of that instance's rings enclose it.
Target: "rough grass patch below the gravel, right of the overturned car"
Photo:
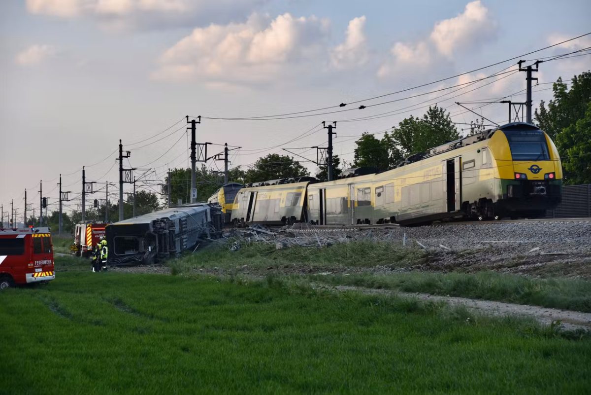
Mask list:
[[[402,267],[408,263],[420,263],[427,255],[423,250],[401,248],[392,242],[354,241],[327,247],[288,247],[275,249],[275,244],[241,242],[238,251],[230,251],[232,242],[226,245],[209,245],[196,254],[188,254],[168,261],[171,267],[183,271],[196,267],[235,268],[298,266],[306,267]]]

